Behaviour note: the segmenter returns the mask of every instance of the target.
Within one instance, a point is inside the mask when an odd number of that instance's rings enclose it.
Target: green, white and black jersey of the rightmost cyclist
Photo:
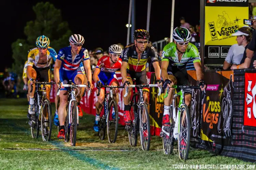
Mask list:
[[[188,61],[192,59],[193,63],[200,62],[200,56],[197,47],[194,44],[188,43],[186,51],[183,53],[179,61],[177,47],[174,42],[167,44],[163,48],[161,61],[169,61],[169,70],[180,70],[186,67]]]

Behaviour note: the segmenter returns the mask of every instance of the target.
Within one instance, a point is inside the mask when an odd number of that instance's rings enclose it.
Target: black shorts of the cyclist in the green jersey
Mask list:
[[[167,69],[168,75],[173,75],[177,80],[177,85],[187,85],[191,86],[191,84],[188,81],[188,74],[186,67],[176,70],[175,72],[171,71],[170,69]],[[177,89],[177,91],[180,91],[180,89]],[[191,89],[186,89],[185,94],[192,94]]]

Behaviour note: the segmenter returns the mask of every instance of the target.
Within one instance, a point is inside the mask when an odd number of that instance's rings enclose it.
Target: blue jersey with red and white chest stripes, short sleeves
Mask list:
[[[61,68],[66,71],[75,71],[79,66],[81,61],[90,59],[89,52],[85,48],[81,48],[79,54],[75,56],[72,62],[71,47],[64,47],[59,50],[58,60],[62,61]]]

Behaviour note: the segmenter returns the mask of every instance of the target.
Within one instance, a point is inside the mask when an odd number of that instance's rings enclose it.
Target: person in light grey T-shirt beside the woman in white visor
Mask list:
[[[239,40],[239,39],[238,39]],[[230,63],[239,65],[243,58],[245,47],[243,45],[234,44],[228,50],[228,55],[223,63],[223,69],[228,69]]]

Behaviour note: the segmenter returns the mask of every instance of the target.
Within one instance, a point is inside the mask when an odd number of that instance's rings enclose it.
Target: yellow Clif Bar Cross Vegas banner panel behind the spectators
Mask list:
[[[205,0],[205,56],[226,58],[243,19],[248,19],[248,0]]]

